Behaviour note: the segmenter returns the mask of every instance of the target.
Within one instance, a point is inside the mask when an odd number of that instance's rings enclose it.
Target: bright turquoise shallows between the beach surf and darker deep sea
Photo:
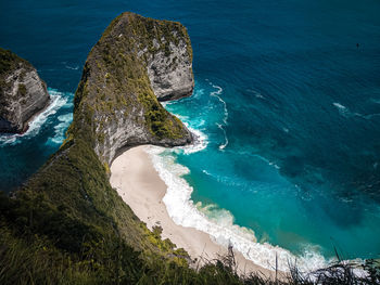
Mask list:
[[[198,209],[217,223],[225,222],[227,209],[228,219],[233,217],[235,224],[253,230],[258,242],[279,245],[297,256],[317,254],[329,260],[335,247],[346,259],[378,257],[378,203],[368,193],[357,189],[343,192],[326,181],[325,169],[305,166],[307,177],[287,176],[282,167],[290,167],[288,161],[265,156],[263,148],[233,137],[233,115],[224,99],[237,91],[214,85],[198,81],[193,98],[166,104],[168,111],[204,135],[206,147],[201,151],[163,154],[189,169],[178,174],[192,187],[191,198]],[[242,114],[236,116],[240,120]],[[287,150],[296,152],[295,147],[289,145]],[[207,209],[207,205],[213,208]],[[322,263],[320,256],[313,256],[313,260]]]

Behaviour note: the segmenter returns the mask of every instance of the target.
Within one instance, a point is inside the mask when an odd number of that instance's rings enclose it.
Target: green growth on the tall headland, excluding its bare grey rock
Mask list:
[[[159,103],[147,74],[145,57],[154,56],[159,49],[179,39],[188,43],[188,52],[192,54],[187,31],[179,23],[134,13],[116,17],[87,59],[68,137],[84,137],[92,146],[105,144],[104,128],[124,120],[136,122],[147,134],[148,141],[141,143],[167,144],[165,139],[173,145],[189,142],[188,130]],[[161,44],[156,49],[154,40]],[[106,163],[113,158],[98,154]]]

